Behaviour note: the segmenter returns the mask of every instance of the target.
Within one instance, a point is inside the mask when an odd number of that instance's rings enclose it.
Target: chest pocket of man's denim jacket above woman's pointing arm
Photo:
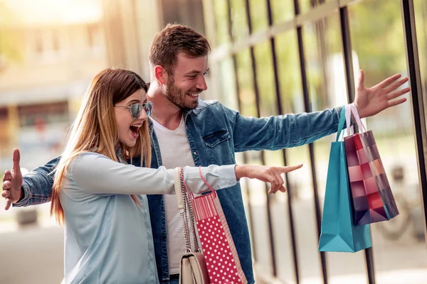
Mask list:
[[[227,130],[216,131],[202,138],[211,163],[215,165],[233,164],[230,138],[230,133]]]

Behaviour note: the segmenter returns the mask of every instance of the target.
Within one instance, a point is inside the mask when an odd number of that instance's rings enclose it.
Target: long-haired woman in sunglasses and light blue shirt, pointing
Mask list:
[[[174,194],[174,170],[149,168],[146,84],[135,72],[107,69],[83,98],[56,169],[51,213],[65,223],[65,283],[159,283],[147,194]],[[141,155],[144,166],[127,165]],[[143,166],[143,164],[141,164]],[[215,190],[242,177],[283,185],[280,173],[299,167],[211,165]],[[201,193],[198,168],[184,178]]]

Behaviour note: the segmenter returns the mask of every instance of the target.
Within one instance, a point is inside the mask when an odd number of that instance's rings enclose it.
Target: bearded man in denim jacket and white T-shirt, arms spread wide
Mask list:
[[[147,97],[153,102],[152,168],[164,165],[226,165],[235,163],[235,152],[278,150],[311,143],[337,131],[341,107],[310,114],[288,114],[270,118],[248,118],[204,102],[199,94],[207,89],[211,47],[203,35],[181,25],[168,25],[155,36],[149,52],[151,84]],[[406,101],[394,92],[407,82],[394,75],[371,89],[364,87],[361,72],[354,100],[361,117],[372,116]],[[395,100],[393,100],[395,99]],[[393,100],[393,101],[392,101]],[[27,206],[48,202],[53,176],[48,175],[58,158],[36,168],[23,179],[19,151],[14,168],[3,182],[6,209],[11,203]],[[139,165],[139,159],[133,163]],[[231,236],[248,283],[254,283],[251,244],[240,185],[218,192]],[[178,283],[179,258],[184,239],[174,196],[149,196],[157,270],[161,283]]]

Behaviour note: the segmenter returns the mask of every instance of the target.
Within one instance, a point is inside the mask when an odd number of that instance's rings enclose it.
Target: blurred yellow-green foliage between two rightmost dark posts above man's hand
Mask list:
[[[404,31],[399,0],[364,1],[350,6],[352,45],[365,84],[372,86],[394,73],[406,72]]]

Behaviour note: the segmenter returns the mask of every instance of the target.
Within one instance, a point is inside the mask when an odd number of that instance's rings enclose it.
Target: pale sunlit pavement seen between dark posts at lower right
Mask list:
[[[300,283],[321,284],[320,256],[317,253],[317,227],[312,200],[295,200],[292,211],[295,218],[295,236],[300,269]],[[259,271],[271,274],[270,246],[266,231],[266,212],[263,207],[253,207],[255,217],[253,246],[258,258]],[[290,242],[288,209],[284,203],[273,202],[273,238],[278,278],[283,283],[295,283],[293,276],[292,247]],[[426,284],[427,248],[424,241],[416,241],[407,230],[401,239],[389,241],[371,225],[376,283],[380,284]],[[326,253],[327,273],[330,283],[367,283],[367,268],[364,251],[357,253]],[[269,273],[270,271],[270,273]]]

